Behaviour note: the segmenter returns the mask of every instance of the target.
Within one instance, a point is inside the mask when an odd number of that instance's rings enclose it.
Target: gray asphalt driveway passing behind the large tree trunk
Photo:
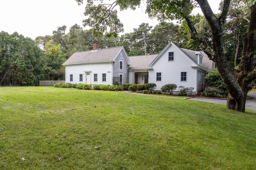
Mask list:
[[[250,96],[250,99],[246,100],[245,108],[256,110],[256,93],[248,93],[247,96]],[[227,100],[225,99],[214,99],[214,98],[189,98],[188,100],[196,100],[202,102],[210,102],[216,104],[226,105]]]

